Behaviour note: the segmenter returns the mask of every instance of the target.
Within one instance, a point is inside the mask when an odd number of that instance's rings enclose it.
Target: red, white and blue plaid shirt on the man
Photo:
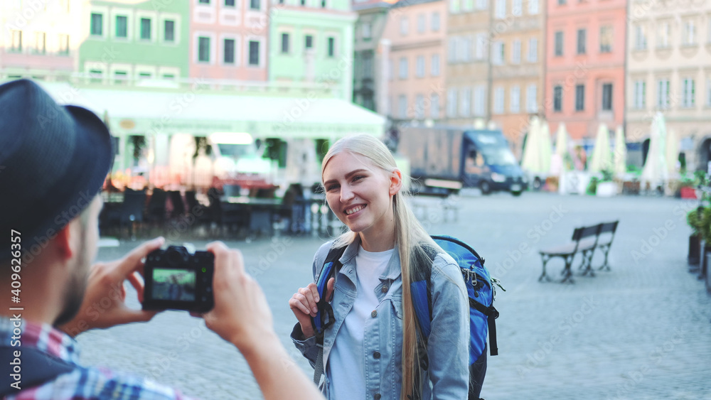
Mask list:
[[[187,399],[178,391],[144,378],[111,372],[108,369],[84,367],[79,364],[78,343],[50,325],[22,321],[22,347],[33,347],[75,366],[72,372],[61,374],[41,386],[23,388],[7,400],[31,399]],[[0,318],[0,343],[11,342],[13,325],[8,318]]]

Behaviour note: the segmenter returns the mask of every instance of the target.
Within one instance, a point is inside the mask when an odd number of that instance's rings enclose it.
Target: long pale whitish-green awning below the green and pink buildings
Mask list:
[[[381,136],[385,119],[341,99],[274,97],[215,90],[76,88],[43,83],[61,104],[77,104],[99,116],[107,112],[112,134],[152,135],[218,131],[249,132],[255,137],[337,139],[348,134]]]

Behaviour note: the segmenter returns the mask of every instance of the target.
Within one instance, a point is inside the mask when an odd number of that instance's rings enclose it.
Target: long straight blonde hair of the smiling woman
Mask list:
[[[338,153],[351,153],[368,158],[375,166],[383,169],[386,173],[392,173],[398,168],[395,165],[395,158],[382,141],[373,136],[360,134],[346,136],[336,141],[321,162],[321,178],[323,180],[324,169],[331,157]],[[403,177],[407,179],[407,177]],[[395,219],[395,246],[400,255],[400,269],[402,272],[402,389],[400,399],[407,400],[412,391],[421,393],[421,387],[415,387],[415,374],[419,374],[419,347],[417,346],[417,318],[415,307],[412,304],[410,293],[410,283],[414,276],[422,276],[423,270],[427,266],[422,262],[414,260],[429,259],[423,247],[439,249],[434,243],[424,227],[419,224],[415,214],[407,205],[407,194],[404,192],[392,195],[392,211]],[[351,244],[358,236],[357,233],[348,231],[338,237],[335,247]],[[422,382],[419,382],[421,385]],[[413,396],[414,397],[414,396]]]

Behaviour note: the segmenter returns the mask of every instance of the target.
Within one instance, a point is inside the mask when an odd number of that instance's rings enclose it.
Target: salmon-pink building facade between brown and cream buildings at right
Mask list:
[[[545,117],[573,140],[624,126],[626,0],[547,0]]]

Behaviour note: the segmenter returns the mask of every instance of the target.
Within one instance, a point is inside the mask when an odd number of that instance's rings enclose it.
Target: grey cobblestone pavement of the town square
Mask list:
[[[669,198],[592,198],[524,193],[462,197],[444,221],[438,200],[419,200],[432,234],[469,242],[486,258],[498,291],[500,355],[490,357],[486,399],[711,399],[711,296],[688,272],[695,202]],[[611,271],[539,283],[541,247],[567,241],[574,227],[620,220]],[[277,333],[299,367],[288,299],[309,282],[318,237],[226,241],[242,249],[267,294]],[[204,247],[205,241],[193,241]],[[138,242],[102,248],[114,259]],[[579,260],[576,259],[574,268]],[[596,254],[593,265],[602,264]],[[562,261],[549,263],[554,276]],[[576,271],[577,273],[577,271]],[[136,306],[137,303],[134,302]],[[187,313],[80,335],[82,360],[180,388],[203,399],[260,399],[245,360]]]

